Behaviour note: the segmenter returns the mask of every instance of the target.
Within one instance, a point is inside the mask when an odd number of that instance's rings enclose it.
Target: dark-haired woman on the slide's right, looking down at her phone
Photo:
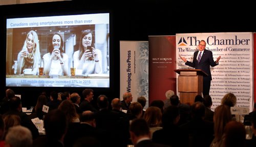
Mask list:
[[[79,50],[73,54],[74,67],[81,69],[82,74],[101,73],[102,72],[102,55],[99,49],[95,48],[95,37],[91,30],[82,31],[81,43]],[[92,51],[89,49],[92,47]]]

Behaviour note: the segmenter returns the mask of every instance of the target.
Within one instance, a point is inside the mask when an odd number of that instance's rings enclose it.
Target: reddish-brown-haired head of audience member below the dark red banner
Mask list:
[[[148,127],[150,127],[151,136],[155,131],[162,129],[162,112],[160,108],[155,106],[148,107],[143,117]]]

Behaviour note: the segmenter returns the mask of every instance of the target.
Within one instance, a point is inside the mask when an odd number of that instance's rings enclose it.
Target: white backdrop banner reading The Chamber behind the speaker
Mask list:
[[[213,103],[211,108],[215,109],[220,105],[225,94],[233,93],[237,97],[238,107],[249,107],[252,111],[252,33],[176,34],[177,69],[193,69],[186,66],[179,55],[192,62],[200,40],[206,41],[205,49],[212,51],[215,61],[218,56],[221,56],[219,65],[210,69],[212,81],[209,95]],[[176,85],[178,85],[178,80]]]

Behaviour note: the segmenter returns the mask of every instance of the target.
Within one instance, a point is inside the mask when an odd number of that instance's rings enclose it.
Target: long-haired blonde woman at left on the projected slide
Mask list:
[[[31,74],[36,75],[41,62],[38,36],[35,31],[27,34],[22,50],[17,57],[17,74],[23,74],[24,69],[32,69]]]

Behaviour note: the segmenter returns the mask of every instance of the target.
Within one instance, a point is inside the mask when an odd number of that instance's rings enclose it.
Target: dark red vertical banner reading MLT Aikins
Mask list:
[[[175,36],[149,36],[150,103],[165,100],[165,92],[176,94],[176,40]]]

